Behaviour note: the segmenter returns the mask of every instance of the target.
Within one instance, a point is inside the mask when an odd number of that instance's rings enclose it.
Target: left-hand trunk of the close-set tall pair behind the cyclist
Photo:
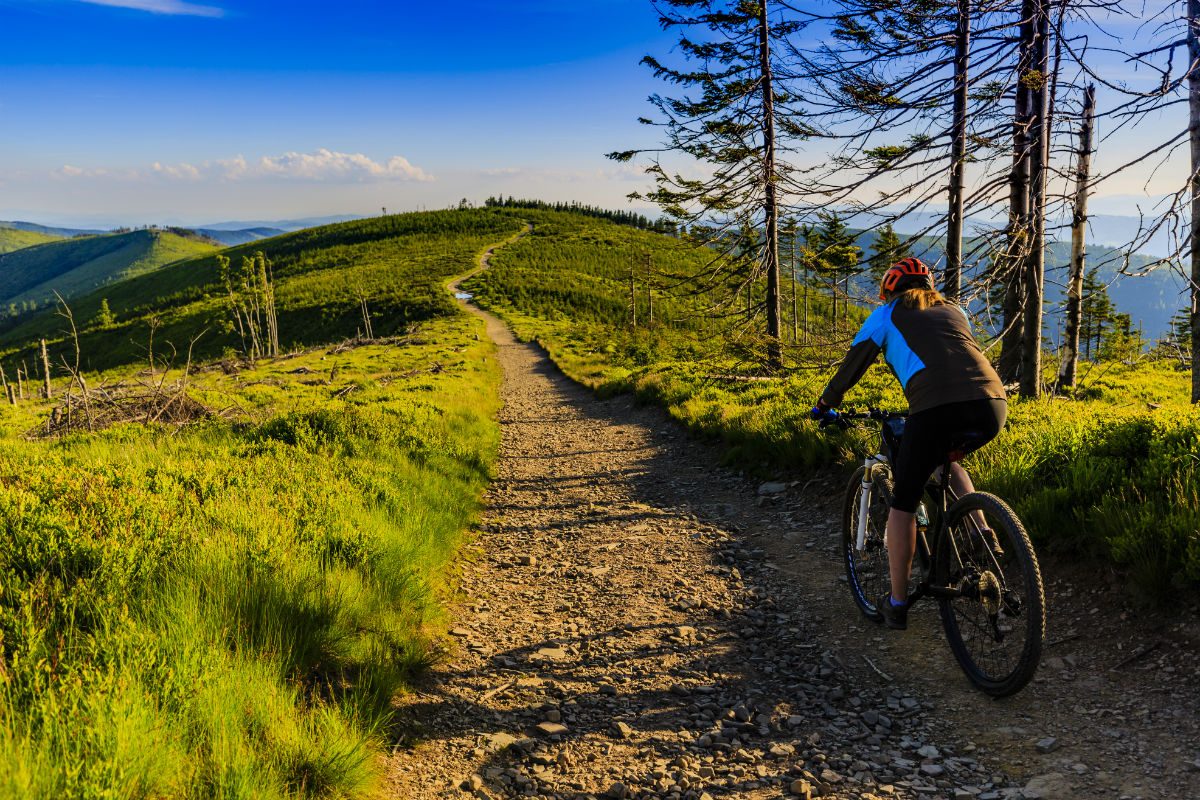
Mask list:
[[[1025,255],[1030,248],[1030,128],[1033,92],[1026,82],[1033,55],[1033,17],[1037,0],[1022,0],[1020,54],[1016,66],[1016,104],[1013,112],[1013,170],[1008,178],[1008,252],[1004,257],[1004,330],[1001,335],[1000,377],[1013,383],[1021,374],[1021,338],[1025,308]]]

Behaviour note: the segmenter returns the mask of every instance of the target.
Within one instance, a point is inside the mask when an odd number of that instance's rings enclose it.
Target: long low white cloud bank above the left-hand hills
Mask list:
[[[119,178],[164,181],[305,181],[318,184],[378,184],[432,181],[433,176],[403,156],[378,162],[361,152],[337,152],[322,148],[316,152],[284,152],[248,161],[245,156],[205,161],[198,164],[154,162],[148,169],[84,169],[66,164],[52,173],[56,179]]]

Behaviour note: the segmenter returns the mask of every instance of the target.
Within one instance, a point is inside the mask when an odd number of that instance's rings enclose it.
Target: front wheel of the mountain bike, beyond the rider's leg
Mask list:
[[[872,469],[871,498],[868,505],[866,539],[858,549],[858,515],[863,494],[865,467],[859,467],[850,486],[846,487],[846,506],[842,511],[841,554],[846,564],[846,578],[854,604],[874,622],[883,620],[875,607],[880,596],[888,591],[892,581],[888,575],[887,525],[892,505],[892,469],[876,464]]]

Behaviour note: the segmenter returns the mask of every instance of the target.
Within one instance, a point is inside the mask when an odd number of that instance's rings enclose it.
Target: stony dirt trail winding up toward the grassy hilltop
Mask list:
[[[472,312],[504,368],[498,477],[454,656],[402,700],[419,733],[394,796],[1187,796],[1195,739],[1142,777],[1168,757],[1145,720],[1067,714],[1063,670],[994,703],[932,609],[908,636],[863,622],[833,554],[840,485],[760,495],[656,409],[596,399]],[[1121,728],[1051,729],[1072,715]]]

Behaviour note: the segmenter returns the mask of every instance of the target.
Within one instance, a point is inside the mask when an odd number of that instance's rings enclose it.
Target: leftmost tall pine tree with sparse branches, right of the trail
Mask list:
[[[752,241],[714,235],[704,245],[726,254],[746,246],[756,253],[752,283],[764,283],[758,303],[766,309],[767,363],[782,366],[780,318],[779,187],[788,173],[779,160],[811,131],[797,125],[790,103],[802,95],[788,89],[791,71],[780,68],[776,53],[800,23],[781,16],[787,6],[775,0],[661,0],[656,4],[665,29],[680,31],[678,52],[686,64],[672,66],[647,55],[642,62],[654,74],[685,94],[650,97],[660,112],[667,151],[680,152],[704,164],[706,178],[689,179],[667,172],[661,163],[647,168],[655,180],[649,199],[680,225],[739,231],[750,229]],[[791,145],[788,145],[791,140]],[[608,154],[629,161],[638,150]],[[713,223],[704,225],[703,223]],[[738,239],[738,240],[734,240]],[[724,282],[719,266],[702,276],[698,291]],[[738,287],[738,291],[743,288]],[[745,288],[754,296],[752,287]],[[755,307],[748,312],[754,318]]]

